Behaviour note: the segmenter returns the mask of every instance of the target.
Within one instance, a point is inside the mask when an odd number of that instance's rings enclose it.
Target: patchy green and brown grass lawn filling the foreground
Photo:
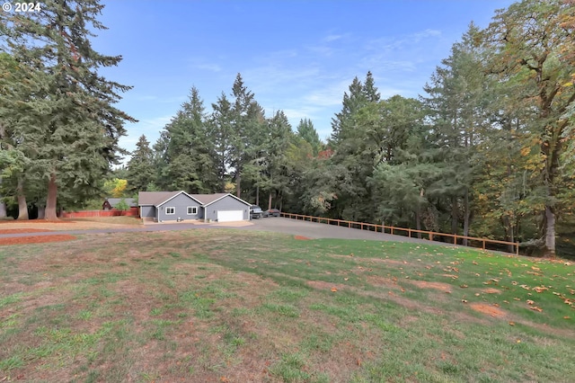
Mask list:
[[[234,229],[0,247],[0,381],[573,381],[575,266]]]

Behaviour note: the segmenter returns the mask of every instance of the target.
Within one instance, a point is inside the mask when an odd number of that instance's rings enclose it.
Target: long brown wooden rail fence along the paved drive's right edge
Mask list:
[[[349,228],[358,228],[361,230],[370,230],[375,231],[376,233],[384,233],[384,234],[392,234],[392,235],[404,235],[411,237],[411,234],[420,233],[427,235],[429,241],[438,240],[441,237],[452,238],[452,243],[454,245],[461,245],[457,241],[467,239],[468,244],[475,243],[481,244],[482,249],[485,250],[485,245],[487,244],[497,244],[497,245],[511,245],[512,248],[515,249],[515,254],[519,254],[519,243],[518,242],[507,242],[507,241],[499,241],[496,239],[488,239],[488,238],[479,238],[476,236],[460,236],[458,234],[447,234],[447,233],[437,233],[434,231],[427,231],[427,230],[417,230],[415,228],[405,228],[405,227],[393,227],[393,226],[385,226],[385,225],[376,225],[370,224],[365,222],[354,222],[354,221],[346,221],[343,219],[333,219],[333,218],[322,218],[322,217],[313,217],[313,216],[304,216],[301,214],[291,214],[291,213],[281,213],[281,217],[285,218],[292,218],[292,219],[301,219],[310,222],[318,222],[318,223],[326,223],[328,225],[337,225]],[[462,242],[463,244],[463,242]],[[470,247],[479,247],[468,245]]]

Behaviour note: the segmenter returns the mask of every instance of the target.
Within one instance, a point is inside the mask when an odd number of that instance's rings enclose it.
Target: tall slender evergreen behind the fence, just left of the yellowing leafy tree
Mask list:
[[[431,122],[432,156],[443,173],[431,192],[449,206],[452,233],[458,233],[463,216],[464,236],[469,235],[472,218],[470,196],[478,167],[473,167],[477,165],[475,146],[484,141],[482,133],[485,125],[489,126],[485,108],[488,79],[482,70],[482,52],[474,43],[478,33],[472,23],[425,85],[428,95],[423,98]]]

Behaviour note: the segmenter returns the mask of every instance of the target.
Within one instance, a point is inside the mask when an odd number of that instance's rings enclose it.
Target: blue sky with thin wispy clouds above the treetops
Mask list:
[[[309,118],[321,138],[354,76],[371,71],[382,98],[417,97],[470,22],[486,27],[510,0],[166,1],[102,0],[93,47],[122,55],[105,68],[134,88],[118,106],[120,146],[152,143],[196,86],[206,111],[241,73],[268,116],[283,110],[296,129]]]

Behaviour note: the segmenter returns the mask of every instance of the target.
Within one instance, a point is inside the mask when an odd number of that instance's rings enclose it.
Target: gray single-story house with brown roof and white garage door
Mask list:
[[[188,194],[185,191],[140,191],[140,217],[155,222],[210,219],[217,222],[250,219],[250,204],[230,193]]]

